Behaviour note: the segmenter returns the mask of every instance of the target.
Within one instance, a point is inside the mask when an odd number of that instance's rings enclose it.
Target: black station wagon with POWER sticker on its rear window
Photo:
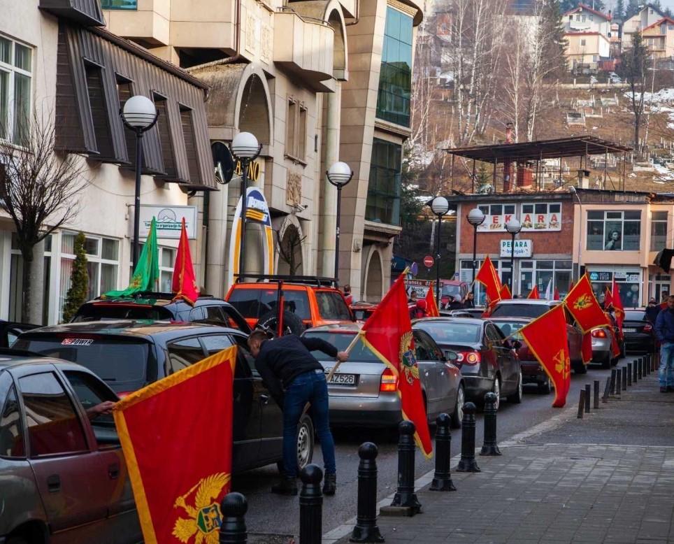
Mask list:
[[[208,324],[109,321],[36,329],[14,347],[82,364],[124,396],[237,345],[232,464],[238,472],[282,459],[282,413],[255,370],[246,338],[238,329]],[[313,437],[305,416],[297,438],[300,466],[311,462]]]

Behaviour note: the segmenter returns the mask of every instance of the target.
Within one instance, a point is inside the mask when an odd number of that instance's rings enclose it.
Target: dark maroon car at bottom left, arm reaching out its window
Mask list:
[[[87,417],[103,401],[83,366],[0,350],[0,543],[142,541],[112,416]]]

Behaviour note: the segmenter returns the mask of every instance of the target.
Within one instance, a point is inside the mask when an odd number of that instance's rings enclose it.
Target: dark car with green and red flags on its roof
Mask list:
[[[71,322],[103,320],[170,320],[210,323],[240,329],[246,334],[250,327],[229,302],[215,296],[202,295],[194,306],[173,300],[172,293],[143,292],[136,296],[101,298],[85,302]]]

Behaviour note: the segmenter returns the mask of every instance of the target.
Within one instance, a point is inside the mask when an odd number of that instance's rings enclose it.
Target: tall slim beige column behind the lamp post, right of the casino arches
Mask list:
[[[327,94],[327,123],[325,138],[325,169],[339,160],[339,132],[341,124],[342,82],[335,81],[335,92]],[[337,228],[337,189],[325,173],[319,178],[324,184],[321,247],[323,252],[322,275],[331,278],[335,269],[335,231]]]

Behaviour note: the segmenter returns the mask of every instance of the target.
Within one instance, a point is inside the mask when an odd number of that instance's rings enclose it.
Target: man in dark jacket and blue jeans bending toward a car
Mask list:
[[[297,424],[304,407],[310,403],[325,464],[323,493],[334,495],[337,477],[335,443],[328,420],[328,387],[323,367],[310,352],[322,351],[340,362],[345,362],[349,354],[338,351],[334,345],[320,338],[301,338],[291,334],[268,340],[263,331],[252,331],[248,336],[248,346],[264,385],[283,410],[285,473],[280,484],[272,486],[271,492],[297,494]]]

